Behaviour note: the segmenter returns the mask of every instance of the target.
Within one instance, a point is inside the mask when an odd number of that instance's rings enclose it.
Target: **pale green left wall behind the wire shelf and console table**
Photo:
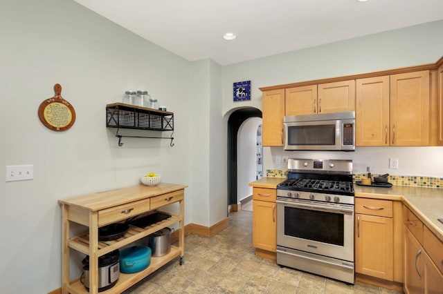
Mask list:
[[[185,220],[192,222],[192,63],[71,0],[1,1],[0,36],[0,293],[60,287],[58,199],[136,185],[154,171],[164,182],[190,186]],[[62,133],[37,116],[56,83],[77,115]],[[125,90],[148,90],[174,112],[174,147],[170,140],[135,138],[117,146],[105,106],[122,101]],[[34,165],[34,179],[5,182],[5,166],[20,164]],[[71,277],[80,277],[83,257]]]

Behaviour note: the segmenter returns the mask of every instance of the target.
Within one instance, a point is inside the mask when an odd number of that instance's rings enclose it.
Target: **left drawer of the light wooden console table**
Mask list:
[[[141,215],[150,210],[150,199],[129,202],[119,206],[106,208],[98,212],[98,226],[120,222],[129,217]]]

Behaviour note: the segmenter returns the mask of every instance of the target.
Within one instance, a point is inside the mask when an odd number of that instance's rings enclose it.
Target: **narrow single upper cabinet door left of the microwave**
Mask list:
[[[284,90],[262,95],[262,145],[283,146]]]

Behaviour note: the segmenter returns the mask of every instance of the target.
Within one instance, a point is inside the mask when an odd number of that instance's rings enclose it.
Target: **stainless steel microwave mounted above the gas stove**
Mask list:
[[[355,112],[284,117],[284,150],[355,150]]]

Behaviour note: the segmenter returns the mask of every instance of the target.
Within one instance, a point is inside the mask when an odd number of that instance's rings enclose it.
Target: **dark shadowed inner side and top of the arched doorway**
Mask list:
[[[228,119],[228,206],[237,205],[237,133],[250,117],[262,117],[262,111],[242,108],[231,113]]]

